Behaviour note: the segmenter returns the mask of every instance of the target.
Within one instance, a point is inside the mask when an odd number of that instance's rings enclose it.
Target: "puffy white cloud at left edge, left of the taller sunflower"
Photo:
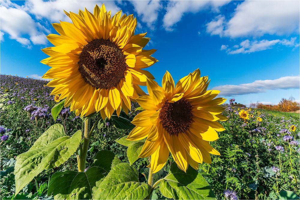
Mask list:
[[[49,31],[22,10],[17,4],[5,2],[0,6],[1,32],[9,34],[10,39],[16,40],[27,48],[31,44],[46,44],[45,32]],[[2,35],[3,36],[3,35]]]

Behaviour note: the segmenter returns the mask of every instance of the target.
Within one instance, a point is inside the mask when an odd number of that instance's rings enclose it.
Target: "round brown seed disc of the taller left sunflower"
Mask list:
[[[98,88],[116,87],[127,64],[125,55],[110,40],[95,39],[85,45],[79,54],[79,72],[85,82]]]

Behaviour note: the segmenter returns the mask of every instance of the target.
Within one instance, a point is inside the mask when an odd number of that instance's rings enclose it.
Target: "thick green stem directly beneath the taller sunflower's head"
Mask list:
[[[85,161],[86,161],[86,156],[87,156],[87,153],[88,153],[88,143],[89,142],[90,142],[89,119],[87,119],[84,122],[84,138],[83,138],[82,151],[80,151],[78,172],[84,172]]]

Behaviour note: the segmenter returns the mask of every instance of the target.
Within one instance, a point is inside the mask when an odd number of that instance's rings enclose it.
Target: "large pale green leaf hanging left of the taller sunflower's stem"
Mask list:
[[[44,169],[58,167],[78,148],[81,131],[72,137],[65,135],[61,124],[54,124],[25,153],[16,157],[16,194]]]

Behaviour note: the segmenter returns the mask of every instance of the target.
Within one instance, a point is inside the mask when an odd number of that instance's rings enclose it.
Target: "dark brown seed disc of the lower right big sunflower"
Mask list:
[[[166,101],[159,113],[159,119],[170,135],[187,130],[192,123],[192,117],[192,105],[183,98],[174,103]]]

